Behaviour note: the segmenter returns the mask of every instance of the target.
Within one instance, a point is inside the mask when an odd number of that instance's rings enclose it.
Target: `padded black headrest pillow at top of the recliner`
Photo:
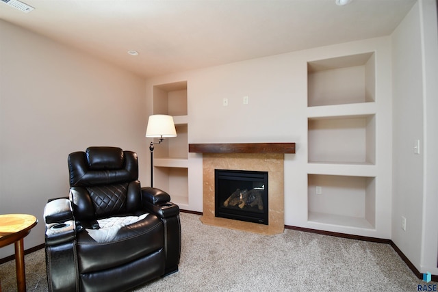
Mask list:
[[[118,147],[88,147],[90,170],[118,170],[123,168],[123,150]]]

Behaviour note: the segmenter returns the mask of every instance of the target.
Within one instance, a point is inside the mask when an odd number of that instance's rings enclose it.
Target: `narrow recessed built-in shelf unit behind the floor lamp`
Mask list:
[[[187,81],[153,86],[153,114],[173,116],[177,129],[177,137],[155,146],[153,186],[171,194],[180,207],[188,204],[187,100]]]

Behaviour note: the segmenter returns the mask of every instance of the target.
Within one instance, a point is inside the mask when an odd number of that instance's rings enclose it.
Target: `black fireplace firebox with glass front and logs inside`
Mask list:
[[[215,216],[268,225],[268,172],[214,170]]]

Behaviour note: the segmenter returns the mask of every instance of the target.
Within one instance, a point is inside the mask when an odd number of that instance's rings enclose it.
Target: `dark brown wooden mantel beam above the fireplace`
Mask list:
[[[295,153],[295,143],[189,144],[195,153]]]

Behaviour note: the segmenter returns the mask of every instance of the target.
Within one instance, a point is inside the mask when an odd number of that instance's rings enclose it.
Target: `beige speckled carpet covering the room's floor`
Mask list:
[[[133,291],[417,291],[425,284],[390,245],[296,230],[256,235],[181,213],[179,272]],[[25,256],[28,291],[47,291],[44,250]],[[1,291],[16,291],[14,261]],[[429,283],[430,284],[430,283]],[[434,282],[436,284],[436,282]]]

